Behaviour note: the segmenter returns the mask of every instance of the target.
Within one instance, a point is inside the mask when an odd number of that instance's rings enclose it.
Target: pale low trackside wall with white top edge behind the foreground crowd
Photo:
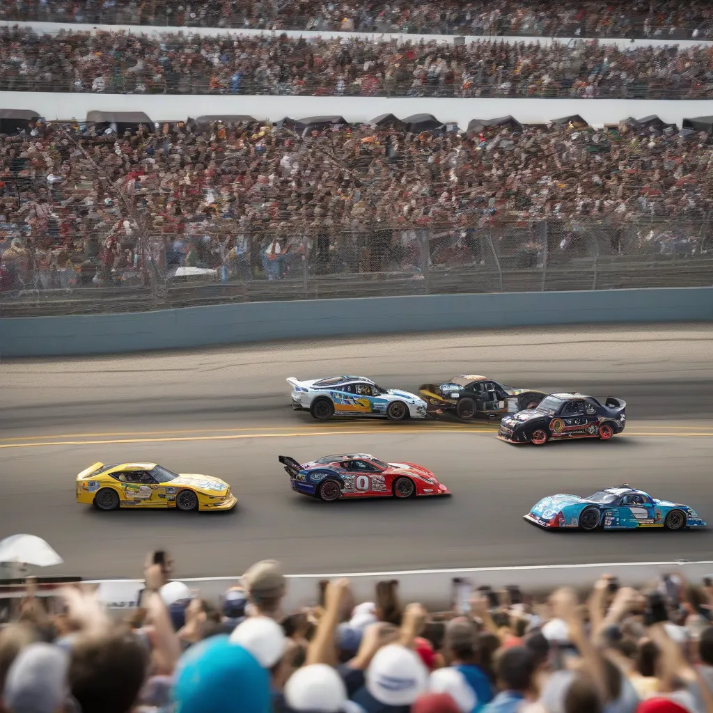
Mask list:
[[[490,585],[493,590],[507,585],[519,585],[533,594],[543,594],[562,586],[588,588],[603,574],[615,575],[622,585],[641,586],[652,583],[663,574],[682,573],[694,582],[711,575],[712,560],[660,562],[617,562],[590,565],[531,565],[524,567],[463,568],[453,570],[405,570],[398,572],[357,572],[339,574],[287,575],[285,608],[314,606],[319,582],[347,577],[357,601],[371,601],[374,585],[383,580],[399,580],[399,597],[404,602],[421,602],[431,610],[446,610],[453,606],[453,578],[470,580],[473,585]],[[239,577],[181,578],[200,595],[218,601],[230,587],[240,584]],[[143,580],[83,580],[97,585],[99,599],[114,610],[131,610],[143,589]],[[56,595],[57,584],[41,587],[40,595]],[[20,584],[3,590],[0,599],[17,597],[24,590]]]

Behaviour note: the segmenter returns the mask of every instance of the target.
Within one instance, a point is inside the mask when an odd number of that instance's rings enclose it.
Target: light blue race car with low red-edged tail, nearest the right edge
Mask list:
[[[630,488],[628,483],[619,488],[605,488],[588,498],[563,494],[543,498],[523,517],[548,530],[682,530],[706,526],[687,505],[657,500]]]

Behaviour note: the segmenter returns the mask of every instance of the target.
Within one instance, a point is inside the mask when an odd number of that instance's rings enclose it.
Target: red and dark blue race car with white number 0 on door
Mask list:
[[[436,476],[416,463],[384,463],[367,453],[325,456],[302,463],[279,456],[292,490],[325,502],[339,498],[411,498],[450,495]]]

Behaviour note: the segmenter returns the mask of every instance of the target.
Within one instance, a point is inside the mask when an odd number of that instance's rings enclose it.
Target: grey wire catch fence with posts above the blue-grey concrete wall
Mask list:
[[[472,228],[200,240],[143,235],[135,265],[70,256],[4,263],[0,317],[137,312],[230,302],[406,294],[533,292],[713,284],[713,220],[501,221]]]

